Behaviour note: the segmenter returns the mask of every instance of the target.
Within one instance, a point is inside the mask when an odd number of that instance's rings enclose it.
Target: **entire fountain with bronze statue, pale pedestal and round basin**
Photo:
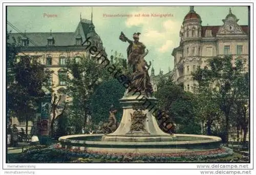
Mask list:
[[[133,68],[129,77],[129,87],[120,99],[123,115],[119,127],[110,134],[68,135],[59,138],[62,148],[79,149],[85,152],[120,154],[171,154],[185,152],[212,151],[220,148],[221,138],[205,135],[167,134],[163,132],[153,115],[157,99],[152,95],[152,85],[148,76],[143,43],[140,33],[134,33],[134,41],[122,32],[119,39],[129,42],[128,63]],[[142,96],[142,98],[139,98]],[[144,99],[144,101],[142,100]],[[148,103],[147,108],[145,104]]]

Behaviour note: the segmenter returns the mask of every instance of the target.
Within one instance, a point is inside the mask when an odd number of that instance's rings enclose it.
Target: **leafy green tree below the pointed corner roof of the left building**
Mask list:
[[[69,58],[67,61],[67,94],[72,97],[71,109],[83,118],[83,126],[86,126],[87,117],[92,115],[89,99],[101,82],[102,69],[103,65],[98,64],[97,59],[84,55],[79,60]]]

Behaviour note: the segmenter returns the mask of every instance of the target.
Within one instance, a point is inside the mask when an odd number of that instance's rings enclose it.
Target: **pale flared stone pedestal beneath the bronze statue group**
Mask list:
[[[172,141],[172,135],[164,133],[152,112],[156,111],[155,97],[142,94],[124,95],[120,100],[123,116],[117,130],[102,137],[108,141]]]

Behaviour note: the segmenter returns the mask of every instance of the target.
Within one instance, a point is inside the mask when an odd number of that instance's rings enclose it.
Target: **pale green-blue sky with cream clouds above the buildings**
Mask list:
[[[239,19],[239,25],[248,25],[246,6],[195,6],[194,10],[201,16],[202,26],[220,26],[229,8]],[[80,21],[80,13],[82,18],[91,19],[91,11],[91,6],[9,6],[7,20],[22,32],[74,32]],[[111,51],[117,51],[125,58],[127,56],[128,43],[119,40],[121,31],[129,39],[139,32],[140,41],[149,51],[145,59],[148,62],[154,60],[155,74],[160,69],[167,73],[174,68],[172,52],[179,46],[180,27],[188,12],[189,6],[94,6],[93,23],[109,58]],[[108,17],[117,14],[130,16]],[[16,33],[10,26],[7,26],[7,30]]]

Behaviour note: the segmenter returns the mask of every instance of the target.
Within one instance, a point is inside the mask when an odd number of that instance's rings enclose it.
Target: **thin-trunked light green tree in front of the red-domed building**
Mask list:
[[[241,79],[245,69],[240,59],[236,59],[233,63],[231,56],[209,59],[207,66],[209,69],[198,69],[193,77],[198,81],[200,91],[212,94],[212,98],[219,102],[220,110],[225,115],[225,141],[227,142],[230,119],[234,120],[230,118],[230,110],[233,103],[241,99],[241,95],[238,95],[241,93],[238,84],[247,83]]]

